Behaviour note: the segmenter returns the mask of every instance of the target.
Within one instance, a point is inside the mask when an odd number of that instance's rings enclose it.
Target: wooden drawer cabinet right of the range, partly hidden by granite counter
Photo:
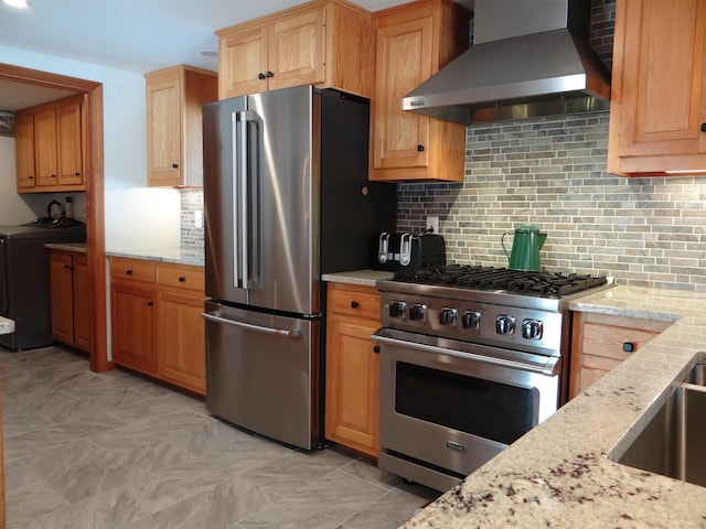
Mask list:
[[[628,359],[672,323],[608,314],[573,315],[569,399]]]

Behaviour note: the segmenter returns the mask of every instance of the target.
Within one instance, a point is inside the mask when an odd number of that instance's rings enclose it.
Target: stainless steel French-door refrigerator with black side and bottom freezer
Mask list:
[[[367,181],[368,100],[287,88],[205,105],[206,408],[323,445],[322,273],[371,268],[394,185]]]

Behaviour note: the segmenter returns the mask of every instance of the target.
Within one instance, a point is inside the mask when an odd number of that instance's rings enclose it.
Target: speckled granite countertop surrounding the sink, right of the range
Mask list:
[[[569,309],[675,322],[554,415],[413,517],[404,529],[706,527],[706,487],[613,463],[706,359],[706,294],[616,287]]]

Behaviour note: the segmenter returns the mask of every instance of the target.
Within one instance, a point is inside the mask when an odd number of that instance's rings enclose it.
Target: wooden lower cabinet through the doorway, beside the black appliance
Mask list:
[[[50,250],[52,338],[90,350],[93,311],[88,258],[82,252]]]

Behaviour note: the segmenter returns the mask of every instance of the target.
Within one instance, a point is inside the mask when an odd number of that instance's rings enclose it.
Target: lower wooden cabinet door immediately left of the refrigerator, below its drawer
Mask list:
[[[201,395],[206,392],[204,301],[195,292],[160,291],[157,320],[160,378]]]

